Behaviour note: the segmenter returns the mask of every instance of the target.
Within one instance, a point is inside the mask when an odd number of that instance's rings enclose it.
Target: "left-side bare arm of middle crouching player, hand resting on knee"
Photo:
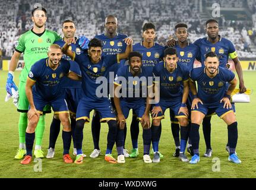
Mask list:
[[[114,103],[116,106],[116,112],[118,112],[117,115],[117,121],[118,121],[118,126],[120,129],[124,129],[125,127],[125,116],[122,113],[121,105],[120,105],[120,89],[121,85],[114,84]]]

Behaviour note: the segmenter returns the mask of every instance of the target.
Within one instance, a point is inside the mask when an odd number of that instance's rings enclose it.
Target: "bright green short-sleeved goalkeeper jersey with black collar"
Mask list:
[[[29,30],[20,36],[15,44],[15,50],[24,53],[25,67],[21,71],[20,81],[26,82],[31,66],[40,59],[47,58],[49,46],[58,40],[61,40],[61,36],[48,29],[41,34]]]

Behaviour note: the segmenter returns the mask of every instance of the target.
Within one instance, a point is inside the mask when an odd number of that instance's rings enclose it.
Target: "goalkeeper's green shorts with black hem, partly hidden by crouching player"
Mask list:
[[[18,112],[26,113],[29,110],[29,100],[27,100],[26,91],[25,91],[26,83],[20,81],[18,85]],[[50,113],[50,105],[46,105],[43,109],[43,113]]]

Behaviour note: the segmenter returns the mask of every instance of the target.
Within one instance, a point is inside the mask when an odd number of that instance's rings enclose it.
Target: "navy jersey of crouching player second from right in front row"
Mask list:
[[[153,68],[154,77],[160,77],[160,99],[169,101],[181,101],[183,95],[183,83],[188,81],[189,70],[185,66],[177,64],[173,72],[166,68],[166,62],[160,62]],[[155,81],[155,83],[158,83]]]

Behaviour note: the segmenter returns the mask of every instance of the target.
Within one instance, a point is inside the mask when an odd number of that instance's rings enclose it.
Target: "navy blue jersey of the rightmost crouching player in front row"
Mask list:
[[[206,68],[200,67],[192,69],[190,73],[192,81],[197,81],[198,97],[206,106],[216,106],[220,104],[226,93],[226,83],[235,78],[235,74],[229,69],[219,67],[217,75],[210,78],[206,74]]]

